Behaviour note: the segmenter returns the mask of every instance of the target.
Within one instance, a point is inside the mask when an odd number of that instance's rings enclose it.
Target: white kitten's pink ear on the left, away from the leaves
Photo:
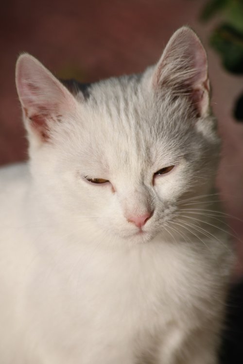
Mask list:
[[[52,123],[75,109],[76,100],[47,68],[27,53],[17,60],[16,85],[26,129],[30,139],[40,145],[49,140]]]

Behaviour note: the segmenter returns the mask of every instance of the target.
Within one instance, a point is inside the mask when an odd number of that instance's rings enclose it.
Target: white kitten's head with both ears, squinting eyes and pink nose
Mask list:
[[[183,200],[212,188],[219,139],[207,56],[191,29],[176,31],[144,73],[85,92],[29,54],[16,83],[33,183],[56,218],[144,242],[166,234]]]

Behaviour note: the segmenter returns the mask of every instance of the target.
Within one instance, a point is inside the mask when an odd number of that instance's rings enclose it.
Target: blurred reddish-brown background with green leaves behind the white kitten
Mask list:
[[[223,138],[218,185],[243,276],[243,1],[22,0],[0,14],[0,165],[27,158],[15,88],[25,51],[61,78],[92,82],[154,64],[172,33],[187,24],[208,52],[212,106]]]

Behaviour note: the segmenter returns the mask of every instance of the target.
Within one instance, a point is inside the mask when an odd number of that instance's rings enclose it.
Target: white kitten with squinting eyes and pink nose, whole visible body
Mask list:
[[[233,259],[198,37],[73,93],[23,54],[16,83],[30,160],[0,172],[0,362],[216,364]]]

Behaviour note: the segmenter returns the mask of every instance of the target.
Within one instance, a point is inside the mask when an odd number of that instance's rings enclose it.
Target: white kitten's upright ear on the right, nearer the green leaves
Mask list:
[[[153,75],[156,90],[168,88],[173,96],[187,95],[197,116],[209,112],[207,55],[198,36],[188,27],[169,40]]]

